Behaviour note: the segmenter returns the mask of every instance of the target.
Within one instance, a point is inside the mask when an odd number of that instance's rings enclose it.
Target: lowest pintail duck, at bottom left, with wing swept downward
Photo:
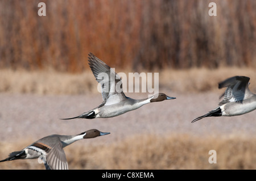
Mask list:
[[[20,151],[14,151],[9,154],[9,157],[0,162],[12,161],[15,159],[36,159],[44,161],[44,166],[47,170],[68,170],[68,162],[63,148],[73,142],[85,138],[94,138],[110,133],[103,133],[97,129],[77,135],[59,135],[53,134],[32,143]]]

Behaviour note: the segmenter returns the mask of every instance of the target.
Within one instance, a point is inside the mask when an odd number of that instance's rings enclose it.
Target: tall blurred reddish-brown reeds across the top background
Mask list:
[[[118,68],[256,66],[256,2],[0,1],[0,68],[81,72],[89,52]],[[216,2],[217,16],[209,16]]]

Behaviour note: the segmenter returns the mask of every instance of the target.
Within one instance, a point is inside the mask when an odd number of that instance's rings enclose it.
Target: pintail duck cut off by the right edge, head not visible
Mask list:
[[[249,90],[249,77],[236,76],[226,79],[218,84],[218,89],[227,87],[220,98],[223,100],[219,107],[207,114],[197,117],[192,121],[198,121],[210,116],[238,116],[256,109],[256,95]]]

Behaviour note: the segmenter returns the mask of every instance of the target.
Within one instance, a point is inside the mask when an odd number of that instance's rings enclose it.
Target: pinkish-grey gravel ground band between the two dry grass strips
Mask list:
[[[138,110],[109,119],[60,120],[80,115],[97,107],[101,95],[32,95],[0,94],[0,138],[5,142],[20,139],[38,140],[49,134],[78,134],[96,128],[111,132],[97,142],[120,141],[134,134],[186,133],[198,136],[241,135],[255,137],[255,111],[235,117],[207,117],[191,123],[219,102],[218,94],[179,94],[166,92],[177,99],[146,104]],[[126,94],[127,95],[127,94]],[[145,95],[129,94],[132,98]],[[147,95],[146,95],[147,96]],[[92,139],[93,140],[93,139]],[[93,141],[90,141],[93,142]]]

